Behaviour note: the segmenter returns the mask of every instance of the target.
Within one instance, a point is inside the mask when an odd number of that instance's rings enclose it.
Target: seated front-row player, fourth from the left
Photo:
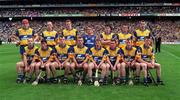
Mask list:
[[[77,45],[74,46],[74,48],[72,49],[72,52],[74,53],[74,56],[70,58],[72,59],[72,63],[71,63],[71,70],[74,76],[74,80],[77,81],[77,79],[79,78],[78,84],[81,85],[82,84],[82,73],[80,72],[80,75],[77,76],[76,72],[75,72],[75,68],[77,70],[81,70],[83,69],[83,77],[85,77],[85,75],[88,73],[88,58],[87,55],[89,53],[89,50],[86,46],[84,46],[84,40],[81,36],[77,37]],[[91,81],[91,78],[89,78],[89,80]]]

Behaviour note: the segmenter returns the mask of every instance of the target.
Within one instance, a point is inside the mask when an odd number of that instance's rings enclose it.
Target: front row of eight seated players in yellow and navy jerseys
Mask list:
[[[74,80],[81,81],[87,75],[88,82],[93,83],[92,75],[95,69],[101,70],[100,83],[107,83],[109,70],[118,73],[117,79],[113,79],[113,82],[126,83],[126,69],[135,69],[136,82],[140,82],[142,71],[144,73],[144,85],[147,86],[147,70],[155,68],[157,83],[162,84],[160,79],[161,66],[155,62],[153,49],[150,46],[151,39],[149,38],[145,38],[144,44],[137,48],[133,47],[132,41],[129,39],[126,40],[126,46],[123,48],[119,48],[117,41],[112,39],[110,46],[106,49],[102,47],[99,39],[96,39],[95,46],[90,49],[84,45],[84,39],[81,36],[77,38],[76,42],[76,46],[70,47],[65,43],[65,37],[62,36],[55,48],[52,49],[44,39],[41,41],[40,48],[34,46],[33,39],[28,39],[28,46],[25,47],[23,53],[23,61],[17,63],[17,82],[23,82],[25,79],[24,73],[27,75],[27,81],[31,80],[33,73],[35,73],[37,79],[40,69],[46,71],[46,82],[57,82],[56,70],[64,68],[64,82],[67,82],[69,72],[71,72]],[[79,69],[83,69],[83,75],[77,77],[76,70]],[[33,84],[37,85],[38,81],[34,81]]]

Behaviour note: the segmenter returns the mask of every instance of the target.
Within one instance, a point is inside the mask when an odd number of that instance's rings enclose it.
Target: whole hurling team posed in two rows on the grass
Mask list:
[[[21,54],[21,61],[16,63],[16,82],[148,86],[154,80],[163,84],[151,31],[145,21],[138,24],[134,33],[129,33],[129,26],[124,24],[120,33],[112,33],[111,26],[105,25],[102,33],[95,34],[93,26],[87,26],[84,34],[78,34],[71,20],[64,22],[62,33],[53,30],[53,23],[48,21],[46,30],[37,35],[23,19],[15,33]],[[35,44],[37,40],[40,45]],[[149,74],[151,69],[156,70],[155,78]]]

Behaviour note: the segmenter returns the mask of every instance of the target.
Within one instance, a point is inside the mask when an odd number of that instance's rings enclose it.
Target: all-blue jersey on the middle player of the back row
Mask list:
[[[90,50],[90,48],[95,46],[96,35],[84,35],[84,45]]]

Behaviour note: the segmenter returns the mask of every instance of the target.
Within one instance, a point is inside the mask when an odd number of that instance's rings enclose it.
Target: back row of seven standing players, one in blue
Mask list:
[[[85,32],[83,34],[84,44],[88,48],[91,48],[95,44],[96,38],[101,38],[101,43],[103,47],[107,48],[110,44],[112,38],[116,38],[119,43],[119,47],[125,46],[125,40],[131,39],[134,41],[135,46],[140,46],[144,42],[145,37],[151,36],[151,31],[147,29],[147,23],[145,21],[140,21],[140,28],[136,29],[134,33],[129,33],[129,26],[122,25],[121,32],[118,34],[112,33],[112,28],[110,25],[106,25],[104,27],[104,32],[101,34],[95,34],[92,26],[87,26]],[[72,22],[70,20],[65,21],[65,28],[62,33],[57,33],[57,31],[53,30],[52,22],[47,22],[47,30],[43,31],[42,34],[37,35],[36,32],[30,28],[29,21],[24,19],[22,21],[22,28],[16,31],[14,36],[19,38],[18,45],[20,45],[20,53],[23,54],[23,49],[27,46],[27,39],[34,38],[35,41],[40,41],[45,39],[47,41],[48,46],[54,47],[58,41],[58,37],[63,35],[65,37],[65,42],[69,46],[76,45],[76,38],[78,30],[72,27]]]

